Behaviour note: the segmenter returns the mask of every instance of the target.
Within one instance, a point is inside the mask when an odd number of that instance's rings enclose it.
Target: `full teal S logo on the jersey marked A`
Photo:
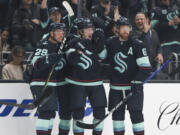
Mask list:
[[[124,73],[127,70],[127,64],[122,60],[127,58],[122,52],[117,53],[114,56],[114,61],[118,66],[115,66],[114,69],[119,71],[120,73]]]

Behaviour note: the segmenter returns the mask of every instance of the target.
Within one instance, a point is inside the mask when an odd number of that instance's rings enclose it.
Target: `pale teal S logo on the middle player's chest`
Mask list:
[[[82,54],[82,56],[80,57],[80,60],[83,62],[79,62],[78,65],[80,67],[82,67],[82,69],[86,70],[88,69],[90,66],[92,66],[92,60],[87,57],[86,55]]]

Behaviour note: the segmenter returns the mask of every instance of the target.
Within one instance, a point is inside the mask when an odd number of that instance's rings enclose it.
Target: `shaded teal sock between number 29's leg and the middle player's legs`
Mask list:
[[[70,121],[71,120],[62,120],[62,119],[60,119],[59,135],[68,135],[69,130],[70,130]]]

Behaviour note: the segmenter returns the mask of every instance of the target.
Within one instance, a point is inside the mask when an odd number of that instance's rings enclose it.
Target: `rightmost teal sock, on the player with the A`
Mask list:
[[[133,124],[134,135],[144,135],[144,122]]]

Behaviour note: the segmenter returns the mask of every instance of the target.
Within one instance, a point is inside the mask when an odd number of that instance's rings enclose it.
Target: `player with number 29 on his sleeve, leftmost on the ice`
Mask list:
[[[30,86],[35,98],[39,98],[43,93],[42,89],[45,86],[47,78],[49,77],[49,72],[52,69],[52,65],[56,64],[56,67],[54,69],[55,71],[53,72],[49,82],[47,83],[47,90],[52,94],[45,104],[42,104],[38,107],[38,120],[36,123],[37,135],[51,134],[53,119],[55,117],[55,111],[57,110],[55,86],[61,86],[62,89],[65,89],[66,87],[63,68],[65,61],[61,53],[64,35],[65,24],[52,23],[50,25],[49,37],[39,42],[33,56],[33,74]],[[57,54],[58,51],[59,54]],[[55,76],[55,74],[58,75],[58,78],[57,76]],[[60,93],[61,91],[58,91],[58,94]],[[63,100],[62,103],[66,104],[66,100]],[[60,110],[60,115],[62,115],[61,117],[64,116],[63,114],[61,114],[63,111],[63,109]],[[59,135],[62,134],[60,133]]]

